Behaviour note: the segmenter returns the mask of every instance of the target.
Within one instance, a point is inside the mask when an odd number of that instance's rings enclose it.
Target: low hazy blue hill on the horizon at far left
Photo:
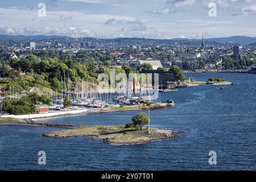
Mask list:
[[[43,40],[43,39],[66,39],[68,36],[46,36],[46,35],[35,35],[35,36],[24,36],[24,35],[0,35],[0,40]]]

